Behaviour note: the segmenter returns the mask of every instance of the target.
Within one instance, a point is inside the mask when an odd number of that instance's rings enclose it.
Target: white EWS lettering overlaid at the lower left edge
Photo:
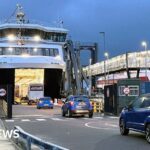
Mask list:
[[[0,129],[0,136],[6,138],[6,139],[11,139],[11,138],[19,138],[19,130],[2,130]]]

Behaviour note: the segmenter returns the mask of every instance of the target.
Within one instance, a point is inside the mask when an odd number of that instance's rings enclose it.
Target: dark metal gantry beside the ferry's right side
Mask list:
[[[96,43],[74,43],[68,40],[64,45],[64,54],[66,61],[66,94],[83,94],[83,81],[89,87],[89,80],[82,70],[80,63],[80,51],[90,50],[91,51],[91,64],[97,62],[97,44]],[[91,87],[91,86],[90,86]]]

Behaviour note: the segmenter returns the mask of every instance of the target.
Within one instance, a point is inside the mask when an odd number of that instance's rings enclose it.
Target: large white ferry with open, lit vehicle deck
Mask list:
[[[42,83],[44,96],[59,97],[68,30],[27,20],[20,5],[14,14],[0,24],[0,84],[16,89],[13,96],[25,96],[29,84]]]

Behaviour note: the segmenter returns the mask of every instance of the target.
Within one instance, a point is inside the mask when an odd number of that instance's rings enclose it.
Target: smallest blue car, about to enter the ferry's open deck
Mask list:
[[[54,104],[50,97],[43,97],[37,101],[37,109],[40,108],[51,108],[53,109]]]

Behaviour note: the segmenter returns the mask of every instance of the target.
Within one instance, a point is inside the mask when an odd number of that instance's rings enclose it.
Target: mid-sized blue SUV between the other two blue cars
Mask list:
[[[93,107],[87,96],[75,95],[69,96],[64,101],[62,106],[62,116],[68,115],[72,117],[73,115],[88,115],[89,118],[93,117]]]

